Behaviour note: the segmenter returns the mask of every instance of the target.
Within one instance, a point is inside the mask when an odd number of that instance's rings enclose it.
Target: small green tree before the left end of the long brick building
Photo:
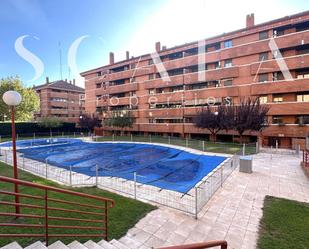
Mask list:
[[[108,118],[104,125],[120,127],[121,133],[123,133],[123,129],[125,127],[132,127],[134,123],[134,117],[132,116],[130,111],[122,111],[122,112],[113,112],[111,117]]]

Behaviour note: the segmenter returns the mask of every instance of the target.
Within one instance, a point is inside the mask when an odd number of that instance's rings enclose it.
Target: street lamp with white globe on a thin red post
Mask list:
[[[22,100],[21,95],[16,91],[7,91],[3,94],[2,97],[5,104],[7,104],[11,108],[12,115],[12,146],[13,146],[13,166],[14,166],[14,178],[18,179],[18,169],[17,169],[17,156],[16,156],[16,131],[15,131],[15,107],[18,106]],[[18,184],[14,185],[15,191],[15,213],[20,213],[19,208],[19,190]]]

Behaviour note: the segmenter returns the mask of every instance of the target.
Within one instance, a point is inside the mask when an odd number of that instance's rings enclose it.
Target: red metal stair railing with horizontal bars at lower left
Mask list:
[[[25,186],[33,188],[42,192],[42,194],[32,195],[26,193],[16,193],[11,191],[0,190],[0,196],[18,196],[19,202],[3,201],[3,198],[0,198],[0,207],[1,206],[12,206],[19,207],[20,213],[6,211],[0,212],[0,216],[6,216],[11,218],[22,218],[18,222],[5,222],[0,223],[0,227],[16,227],[16,228],[38,228],[41,229],[42,233],[9,233],[9,234],[0,234],[1,237],[14,238],[14,237],[42,237],[45,238],[46,244],[48,245],[49,238],[63,238],[63,237],[101,237],[107,240],[108,237],[108,209],[114,207],[115,202],[112,199],[103,198],[99,196],[84,194],[80,192],[74,192],[65,189],[59,189],[51,186],[45,186],[41,184],[36,184],[32,182],[16,180],[13,178],[0,176],[0,182],[17,184],[19,186]],[[55,193],[63,194],[63,199],[53,198],[52,195]],[[94,200],[96,203],[88,204],[81,203],[79,201],[71,201],[71,198],[82,198],[86,202]],[[39,205],[37,203],[25,203],[23,200],[35,200],[36,202],[41,202]],[[64,207],[57,207],[55,203],[61,203]],[[99,203],[99,204],[97,204]],[[78,209],[77,209],[78,207]],[[88,208],[87,211],[82,209]],[[2,208],[0,208],[1,210]],[[7,208],[8,209],[8,208]],[[29,212],[31,210],[41,210],[40,214],[32,214]],[[91,211],[89,211],[91,209]],[[2,209],[3,210],[3,209]],[[15,209],[14,209],[15,210]],[[56,212],[56,216],[52,216],[52,212]],[[60,215],[59,215],[60,213]],[[70,213],[70,217],[62,216]],[[72,214],[78,215],[78,217],[72,217]],[[96,218],[83,218],[81,216],[93,216]],[[3,219],[1,219],[3,220]],[[9,219],[8,219],[9,220]],[[35,220],[35,223],[29,223],[29,221]],[[41,222],[40,222],[41,221]],[[55,222],[58,221],[58,222]],[[69,225],[59,224],[69,223]],[[23,223],[22,223],[23,222]],[[74,225],[76,223],[87,223],[87,226]],[[51,224],[54,223],[54,224]],[[90,225],[89,225],[90,224]],[[53,233],[53,229],[62,230],[75,230],[76,233]],[[82,233],[80,231],[99,231],[97,233]]]

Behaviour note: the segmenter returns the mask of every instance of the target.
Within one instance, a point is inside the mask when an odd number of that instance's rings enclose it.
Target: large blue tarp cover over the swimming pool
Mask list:
[[[133,180],[136,172],[139,183],[181,193],[187,193],[226,159],[154,144],[87,143],[78,139],[18,141],[17,146],[27,158],[47,160],[65,169],[72,166],[77,173],[95,176],[98,165],[100,176]]]

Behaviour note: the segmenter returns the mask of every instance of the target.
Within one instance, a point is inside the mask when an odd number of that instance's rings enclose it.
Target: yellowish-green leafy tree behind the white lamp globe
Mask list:
[[[2,100],[3,94],[9,90],[15,90],[22,96],[22,102],[19,106],[16,107],[15,119],[17,121],[31,120],[33,113],[39,110],[39,97],[32,88],[25,87],[18,76],[8,77],[0,80],[1,117],[10,117],[10,108]]]

